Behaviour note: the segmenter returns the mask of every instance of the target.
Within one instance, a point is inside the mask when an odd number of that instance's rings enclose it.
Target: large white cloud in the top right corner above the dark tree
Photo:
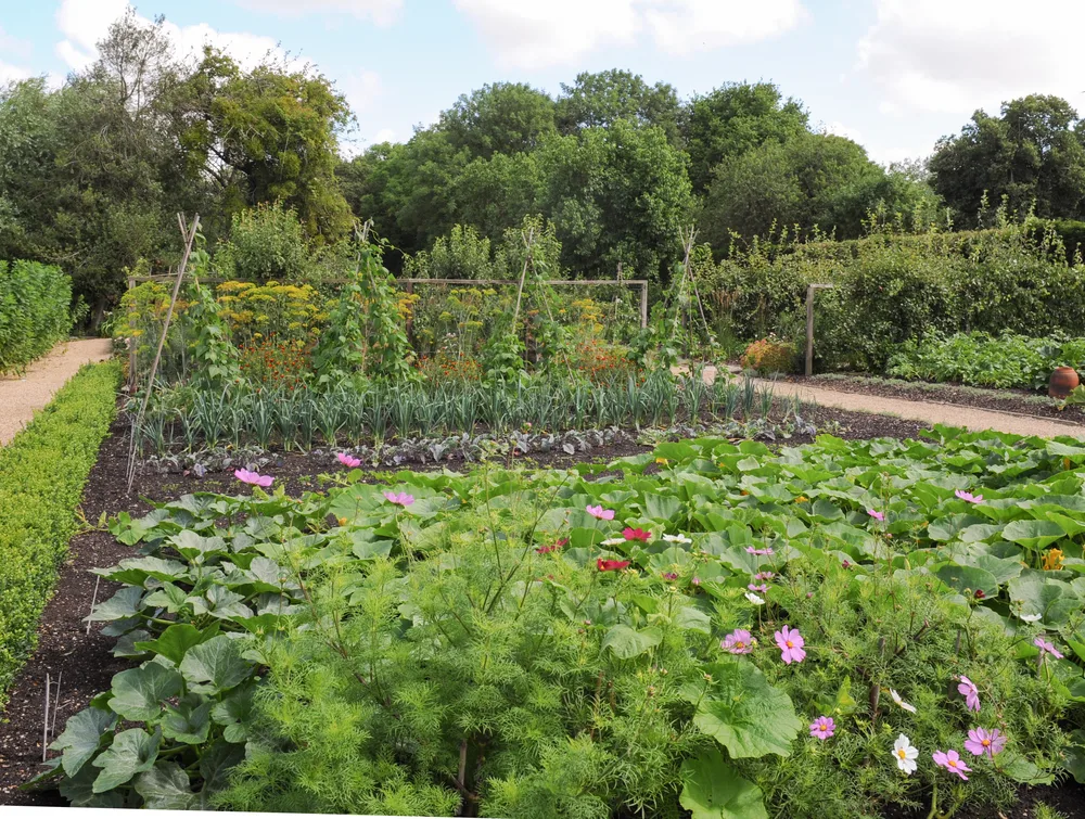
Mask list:
[[[1085,28],[1080,0],[876,0],[858,44],[858,68],[884,93],[883,113],[997,111],[1029,93],[1085,106],[1085,51],[1067,33]]]

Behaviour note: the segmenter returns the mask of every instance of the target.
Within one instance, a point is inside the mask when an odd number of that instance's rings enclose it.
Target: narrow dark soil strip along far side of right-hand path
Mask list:
[[[1051,398],[1027,389],[981,389],[960,384],[931,384],[863,375],[814,375],[809,379],[793,376],[789,381],[841,393],[861,393],[910,401],[939,401],[1085,424],[1085,407],[1067,407],[1060,411]]]

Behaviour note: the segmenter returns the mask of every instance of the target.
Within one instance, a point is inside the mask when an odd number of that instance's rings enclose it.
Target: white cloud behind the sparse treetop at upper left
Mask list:
[[[56,12],[56,26],[65,39],[56,43],[56,53],[73,71],[81,71],[98,57],[97,44],[110,26],[124,16],[128,0],[63,0]],[[151,21],[140,16],[140,22]],[[245,31],[218,31],[206,23],[178,26],[166,21],[165,31],[179,56],[199,56],[205,44],[222,49],[243,67],[252,67],[267,54],[284,57],[279,43],[270,37]],[[296,64],[296,62],[295,62]]]

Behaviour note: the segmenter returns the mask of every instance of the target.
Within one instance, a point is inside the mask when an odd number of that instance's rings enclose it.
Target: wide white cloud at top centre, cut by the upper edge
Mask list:
[[[650,34],[671,55],[756,42],[808,18],[802,0],[454,0],[506,67],[576,63]]]

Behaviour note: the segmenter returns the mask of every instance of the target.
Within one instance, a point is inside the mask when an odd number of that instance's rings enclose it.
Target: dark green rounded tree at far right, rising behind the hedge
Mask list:
[[[984,199],[1011,210],[1035,207],[1045,218],[1085,216],[1082,120],[1058,97],[1033,94],[1004,103],[1001,115],[976,111],[956,137],[939,140],[931,184],[958,223],[975,226]]]

